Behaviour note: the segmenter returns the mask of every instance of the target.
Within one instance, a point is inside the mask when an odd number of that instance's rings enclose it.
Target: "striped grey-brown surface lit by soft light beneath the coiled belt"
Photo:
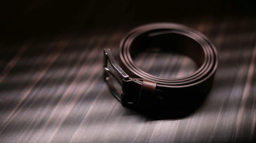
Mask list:
[[[194,113],[153,120],[123,107],[103,80],[103,49],[118,59],[134,26],[102,26],[0,44],[0,142],[256,142],[255,19],[178,22],[218,50],[214,85]],[[196,70],[190,59],[170,55],[142,53],[135,61],[167,78]]]

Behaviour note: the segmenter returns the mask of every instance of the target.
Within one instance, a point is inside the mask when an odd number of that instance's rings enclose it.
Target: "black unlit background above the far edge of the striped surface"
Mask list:
[[[92,28],[137,26],[149,22],[197,19],[253,19],[254,1],[2,1],[1,29],[6,36],[87,32]],[[235,23],[235,21],[234,21]],[[20,38],[20,37],[19,37]]]

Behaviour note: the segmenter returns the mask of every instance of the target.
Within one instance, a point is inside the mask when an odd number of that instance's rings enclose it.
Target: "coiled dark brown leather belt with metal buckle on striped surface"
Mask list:
[[[161,78],[145,73],[132,58],[147,48],[177,52],[192,58],[199,69],[181,78]],[[111,93],[125,106],[140,108],[187,107],[203,99],[212,87],[218,65],[217,51],[202,33],[175,23],[146,24],[131,30],[120,43],[120,64],[104,50],[104,79]],[[108,61],[119,76],[112,73]],[[122,87],[117,91],[112,78]],[[120,79],[121,77],[121,79]]]

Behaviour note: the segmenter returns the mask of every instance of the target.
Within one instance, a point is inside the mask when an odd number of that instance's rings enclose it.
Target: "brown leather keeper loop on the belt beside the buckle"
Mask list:
[[[142,81],[138,105],[144,105],[150,102],[150,99],[152,99],[152,96],[155,94],[156,86],[156,82],[148,80]]]

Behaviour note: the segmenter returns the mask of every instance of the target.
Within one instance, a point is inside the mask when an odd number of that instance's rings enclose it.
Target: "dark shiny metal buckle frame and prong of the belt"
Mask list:
[[[112,93],[112,95],[122,104],[122,98],[121,98],[121,93],[117,91],[117,89],[114,87],[113,82],[109,78],[109,74],[111,74],[117,82],[122,86],[122,81],[120,81],[107,67],[108,61],[110,65],[114,68],[115,71],[117,71],[118,75],[123,79],[123,80],[128,80],[129,76],[123,71],[123,69],[117,64],[116,60],[114,59],[110,49],[104,49],[104,80],[107,82],[108,87]]]

